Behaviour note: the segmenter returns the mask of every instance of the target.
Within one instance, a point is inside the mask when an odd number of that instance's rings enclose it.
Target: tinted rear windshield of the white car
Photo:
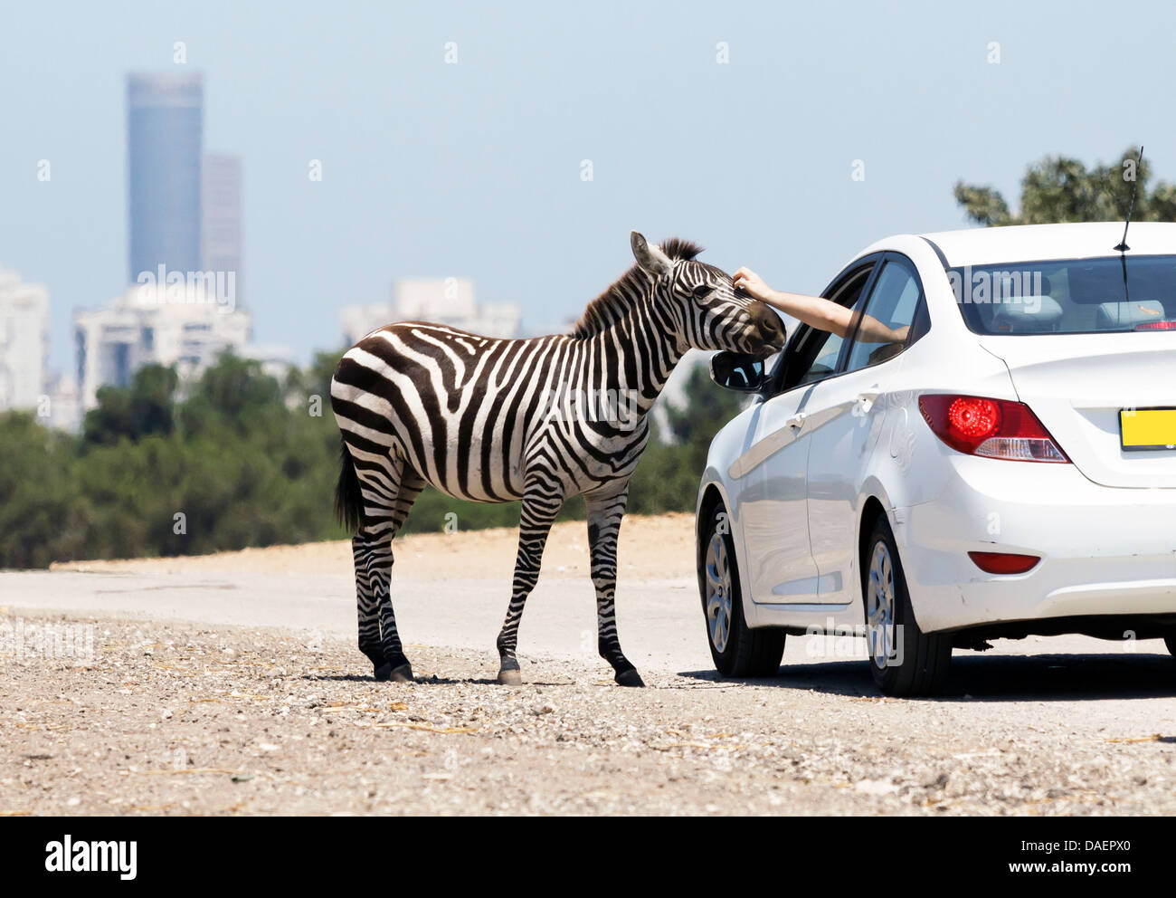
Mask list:
[[[1176,255],[948,268],[964,321],[982,334],[1176,332]]]

